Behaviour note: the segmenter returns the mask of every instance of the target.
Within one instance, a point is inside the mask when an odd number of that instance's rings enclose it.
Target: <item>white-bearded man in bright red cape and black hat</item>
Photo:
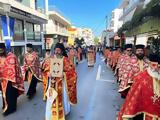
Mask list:
[[[149,67],[135,76],[118,120],[159,120],[160,119],[160,73],[157,55],[149,56]]]

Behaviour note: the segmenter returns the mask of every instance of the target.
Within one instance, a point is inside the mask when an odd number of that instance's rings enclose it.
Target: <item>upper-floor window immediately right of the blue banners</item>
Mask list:
[[[15,25],[14,25],[14,36],[13,40],[14,41],[21,41],[24,40],[24,32],[23,32],[23,21],[22,20],[15,20]]]

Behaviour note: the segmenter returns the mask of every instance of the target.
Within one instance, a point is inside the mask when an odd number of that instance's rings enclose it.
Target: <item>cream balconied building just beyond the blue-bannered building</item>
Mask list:
[[[59,40],[65,43],[68,41],[68,27],[71,23],[55,7],[50,7],[47,13],[49,18],[45,27],[45,48],[51,49]]]

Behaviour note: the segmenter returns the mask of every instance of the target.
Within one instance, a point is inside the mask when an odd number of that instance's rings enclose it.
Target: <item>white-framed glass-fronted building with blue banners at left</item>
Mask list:
[[[21,63],[27,43],[32,43],[40,56],[44,48],[43,24],[47,16],[37,10],[37,1],[0,0],[0,42],[11,45]]]

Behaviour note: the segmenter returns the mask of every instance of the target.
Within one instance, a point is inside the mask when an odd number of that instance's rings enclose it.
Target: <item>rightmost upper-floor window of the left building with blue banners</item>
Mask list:
[[[34,40],[34,25],[26,22],[27,40]]]

